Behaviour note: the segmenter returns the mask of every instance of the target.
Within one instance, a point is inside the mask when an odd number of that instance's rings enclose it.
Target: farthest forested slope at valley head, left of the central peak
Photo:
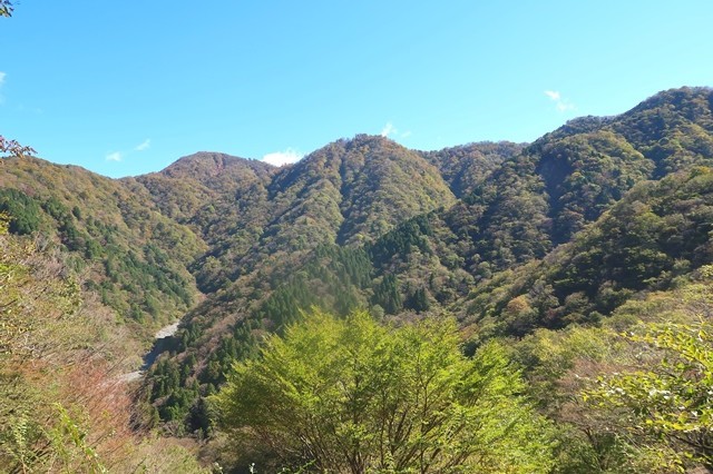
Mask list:
[[[202,292],[213,293],[237,277],[241,259],[271,219],[267,185],[276,170],[262,161],[199,152],[136,178],[165,215],[207,244],[191,266]]]

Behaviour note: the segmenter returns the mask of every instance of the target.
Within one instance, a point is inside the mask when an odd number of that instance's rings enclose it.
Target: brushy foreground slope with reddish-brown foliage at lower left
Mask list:
[[[0,472],[202,473],[147,436],[123,374],[141,346],[58,248],[8,235],[0,213]],[[147,417],[150,422],[150,416]]]

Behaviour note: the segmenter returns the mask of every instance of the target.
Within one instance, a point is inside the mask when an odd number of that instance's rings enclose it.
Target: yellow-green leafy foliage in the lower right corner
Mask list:
[[[657,455],[660,465],[694,460],[713,467],[713,344],[709,322],[655,324],[625,337],[660,362],[599,377],[584,393],[597,409],[626,419],[624,431]]]

